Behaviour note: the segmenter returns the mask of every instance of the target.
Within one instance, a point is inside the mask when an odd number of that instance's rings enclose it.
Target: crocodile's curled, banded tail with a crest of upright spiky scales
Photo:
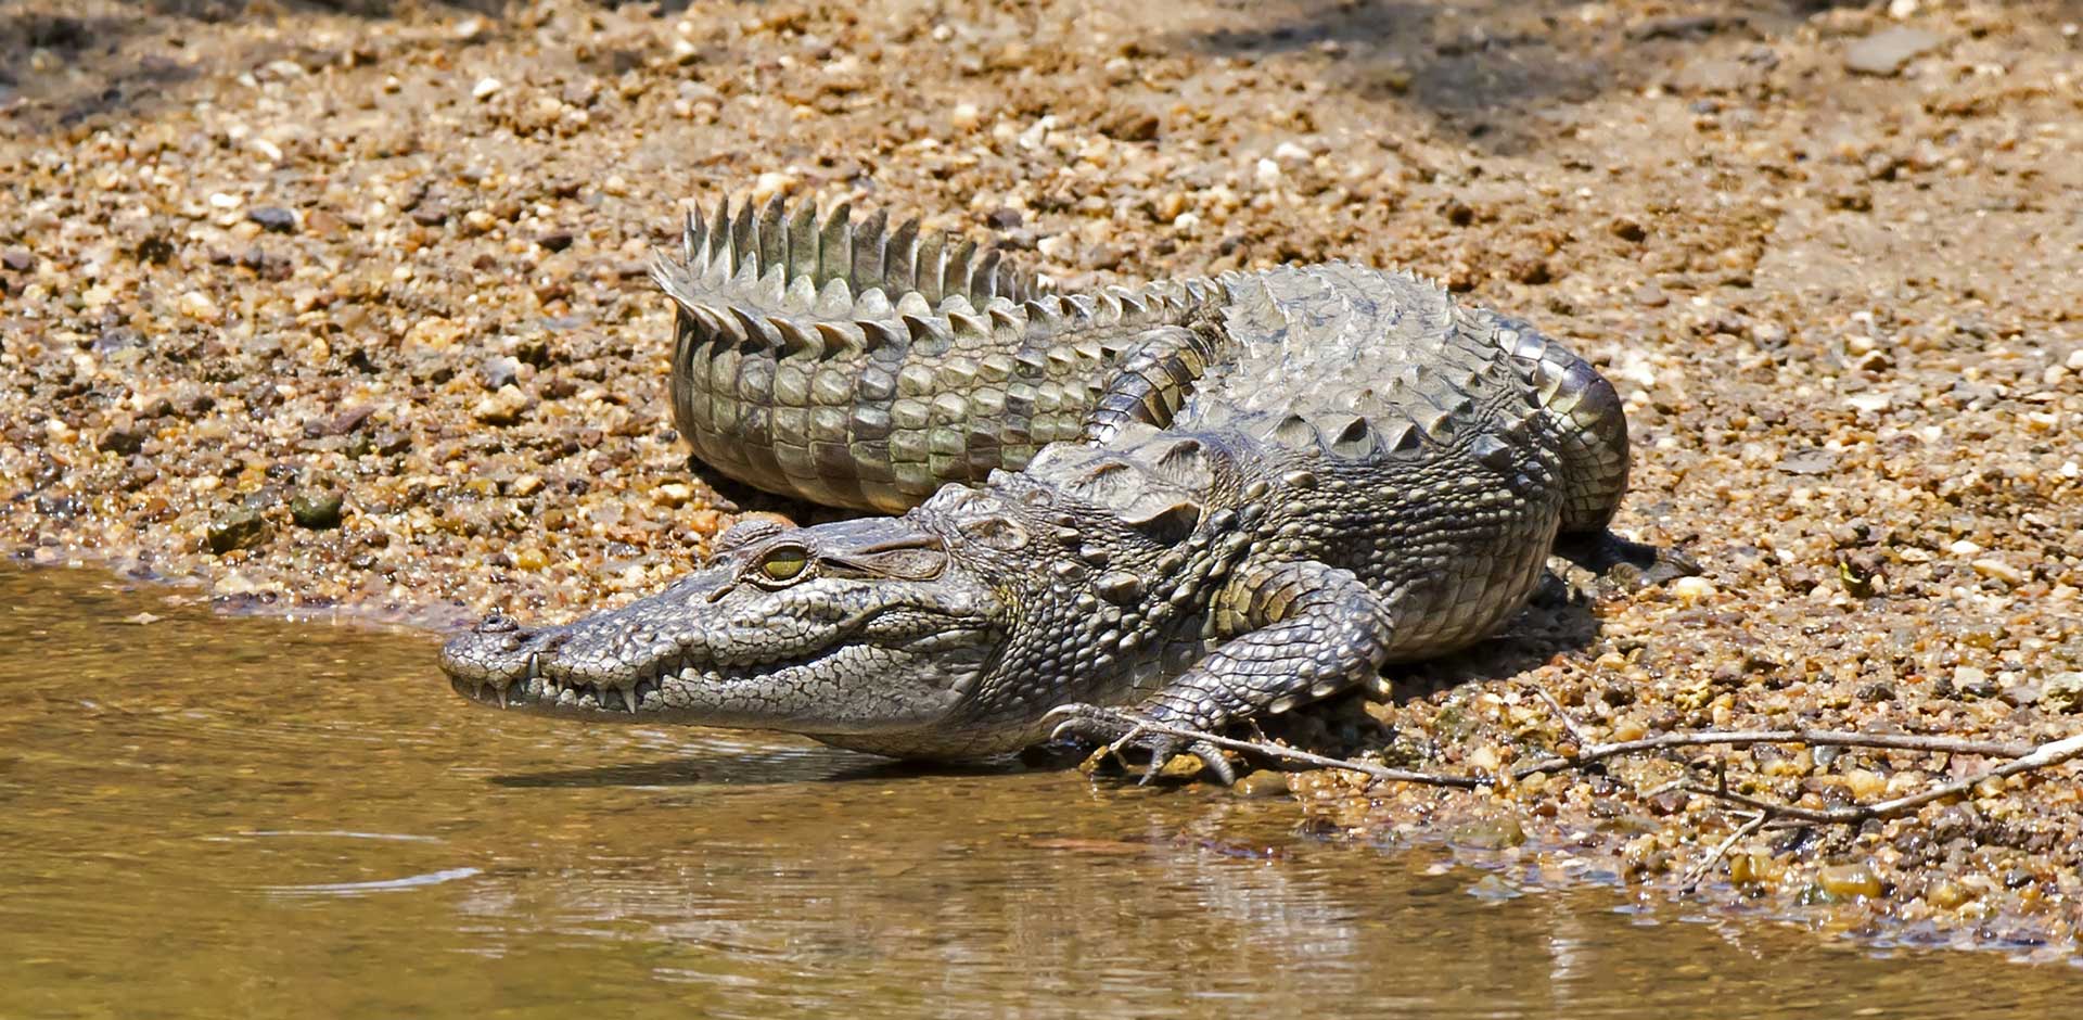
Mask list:
[[[1216,300],[1150,283],[1058,296],[975,244],[775,200],[687,216],[652,279],[673,298],[673,423],[712,468],[896,512],[1077,439],[1141,331]]]

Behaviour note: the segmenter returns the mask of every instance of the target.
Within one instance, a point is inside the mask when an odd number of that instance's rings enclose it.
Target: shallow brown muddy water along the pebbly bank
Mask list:
[[[1473,895],[1277,799],[487,714],[433,649],[0,568],[0,1016],[2060,1016],[2079,980]]]

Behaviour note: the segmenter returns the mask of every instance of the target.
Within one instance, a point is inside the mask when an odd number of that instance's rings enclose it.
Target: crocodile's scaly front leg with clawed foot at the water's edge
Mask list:
[[[1229,762],[1212,743],[1148,733],[1141,724],[1214,733],[1344,691],[1381,672],[1396,633],[1394,612],[1381,595],[1352,570],[1316,560],[1239,572],[1216,595],[1214,620],[1219,633],[1235,637],[1177,681],[1127,712],[1083,704],[1058,708],[1052,716],[1064,722],[1056,733],[1148,749],[1146,783],[1181,751],[1231,783]]]

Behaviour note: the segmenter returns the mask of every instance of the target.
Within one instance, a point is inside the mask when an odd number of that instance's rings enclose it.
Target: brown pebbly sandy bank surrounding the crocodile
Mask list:
[[[1314,743],[1508,770],[1568,741],[1535,685],[1593,739],[2083,731],[2083,6],[1139,6],[0,2],[0,541],[431,624],[654,589],[802,512],[687,464],[644,279],[689,198],[789,192],[1073,289],[1408,264],[1608,371],[1618,527],[1706,583],[1550,591]],[[1660,897],[1741,824],[1685,774],[1833,806],[1985,764],[1291,787]],[[2056,772],[1748,837],[1696,895],[2068,955],[2079,864]]]

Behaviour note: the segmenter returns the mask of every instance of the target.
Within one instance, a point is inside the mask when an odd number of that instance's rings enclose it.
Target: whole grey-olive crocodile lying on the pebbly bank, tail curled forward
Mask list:
[[[1191,733],[1385,691],[1550,554],[1631,545],[1612,385],[1408,271],[1058,294],[917,219],[773,200],[689,212],[652,277],[694,454],[875,514],[739,522],[569,624],[494,612],[442,649],[469,699],[925,760],[1075,735],[1229,779]]]

